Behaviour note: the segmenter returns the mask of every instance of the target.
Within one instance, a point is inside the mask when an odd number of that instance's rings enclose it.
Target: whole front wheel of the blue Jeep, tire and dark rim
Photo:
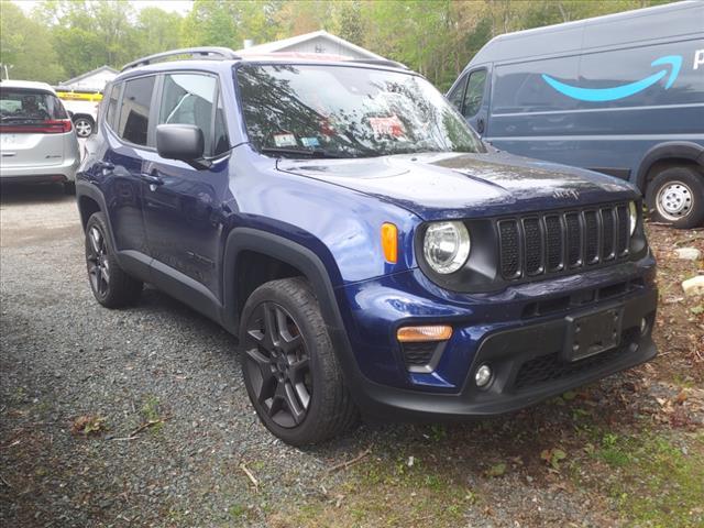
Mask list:
[[[266,428],[292,446],[327,440],[356,420],[310,286],[272,280],[248,299],[240,324],[242,373]]]

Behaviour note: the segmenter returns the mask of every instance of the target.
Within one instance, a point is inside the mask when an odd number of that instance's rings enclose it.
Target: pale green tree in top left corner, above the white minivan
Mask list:
[[[65,76],[48,30],[9,1],[0,2],[0,63],[12,79],[57,84]]]

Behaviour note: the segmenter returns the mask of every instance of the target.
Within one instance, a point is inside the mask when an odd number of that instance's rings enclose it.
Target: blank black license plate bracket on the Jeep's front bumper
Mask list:
[[[566,316],[563,360],[573,363],[618,346],[623,318],[624,307],[620,305]]]

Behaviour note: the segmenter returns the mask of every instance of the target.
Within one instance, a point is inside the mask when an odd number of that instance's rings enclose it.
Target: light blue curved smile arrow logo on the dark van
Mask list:
[[[667,66],[670,66],[668,68]],[[542,74],[542,79],[554,88],[560,94],[571,97],[572,99],[578,99],[580,101],[616,101],[618,99],[625,99],[627,97],[634,96],[646,88],[651,87],[652,85],[660,81],[660,79],[668,77],[668,69],[670,72],[670,76],[664,85],[664,89],[667,90],[672,86],[674,80],[678,78],[680,74],[680,68],[682,67],[682,56],[681,55],[667,55],[664,57],[657,58],[650,66],[666,66],[666,68],[656,72],[648,77],[645,77],[635,82],[629,82],[627,85],[615,86],[613,88],[580,88],[579,86],[570,86],[564,82],[559,81],[558,79],[550,77],[549,75]]]

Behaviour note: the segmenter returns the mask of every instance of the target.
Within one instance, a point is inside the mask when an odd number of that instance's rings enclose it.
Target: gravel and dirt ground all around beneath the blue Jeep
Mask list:
[[[147,288],[98,307],[74,198],[0,200],[0,525],[704,526],[704,230],[648,226],[660,355],[507,416],[363,424],[298,450],[258,424],[219,327]]]

